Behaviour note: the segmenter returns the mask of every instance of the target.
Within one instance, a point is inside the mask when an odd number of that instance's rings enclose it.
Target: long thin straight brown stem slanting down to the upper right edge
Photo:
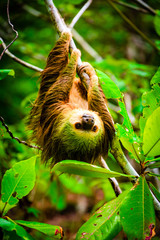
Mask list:
[[[133,23],[131,20],[125,16],[119,8],[115,6],[115,4],[111,0],[107,0],[107,2],[119,13],[119,15],[136,31],[139,35],[144,38],[152,47],[159,51],[157,46],[143,33],[141,30]]]

